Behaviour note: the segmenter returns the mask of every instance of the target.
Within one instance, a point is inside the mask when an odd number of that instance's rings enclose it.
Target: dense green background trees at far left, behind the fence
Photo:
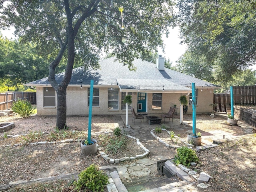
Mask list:
[[[39,56],[35,47],[0,35],[0,81],[18,89],[22,83],[45,77],[49,59]]]

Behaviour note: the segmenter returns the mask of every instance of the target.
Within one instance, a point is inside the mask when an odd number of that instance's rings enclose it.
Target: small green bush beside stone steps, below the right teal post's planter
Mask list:
[[[196,152],[188,147],[181,147],[177,149],[177,154],[174,157],[174,162],[178,164],[182,164],[184,166],[190,167],[191,162],[198,162],[199,159],[196,156]]]

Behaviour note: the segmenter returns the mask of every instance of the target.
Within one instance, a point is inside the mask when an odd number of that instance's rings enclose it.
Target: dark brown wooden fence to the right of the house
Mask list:
[[[234,105],[256,105],[256,86],[233,86]],[[218,93],[213,97],[216,112],[226,112],[231,105],[230,94]]]

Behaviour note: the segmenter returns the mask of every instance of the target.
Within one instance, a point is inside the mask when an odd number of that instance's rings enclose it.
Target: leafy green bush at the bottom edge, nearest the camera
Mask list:
[[[108,176],[94,164],[91,164],[88,168],[80,172],[78,180],[74,181],[77,191],[85,188],[88,188],[92,192],[104,191],[106,184],[108,184]]]

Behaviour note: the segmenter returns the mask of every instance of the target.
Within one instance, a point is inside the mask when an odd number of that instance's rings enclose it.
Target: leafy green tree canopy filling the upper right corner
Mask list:
[[[230,80],[256,61],[256,6],[252,0],[178,1],[183,41],[204,58],[217,80]]]

